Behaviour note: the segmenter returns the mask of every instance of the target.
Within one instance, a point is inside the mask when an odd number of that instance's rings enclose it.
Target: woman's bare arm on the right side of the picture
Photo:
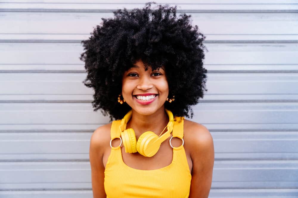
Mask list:
[[[201,124],[192,126],[190,157],[193,162],[190,198],[208,198],[212,183],[214,145],[209,130]]]

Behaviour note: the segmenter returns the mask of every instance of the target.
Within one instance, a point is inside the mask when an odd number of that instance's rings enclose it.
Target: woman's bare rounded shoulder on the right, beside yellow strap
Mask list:
[[[184,141],[193,151],[213,147],[213,138],[206,126],[184,119]]]

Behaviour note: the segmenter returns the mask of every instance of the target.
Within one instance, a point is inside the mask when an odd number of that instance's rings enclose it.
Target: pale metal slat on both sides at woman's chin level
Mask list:
[[[204,103],[194,107],[199,123],[297,124],[298,103]],[[103,124],[107,123],[91,104],[84,103],[2,103],[1,125],[5,124]],[[0,127],[1,127],[0,125]]]

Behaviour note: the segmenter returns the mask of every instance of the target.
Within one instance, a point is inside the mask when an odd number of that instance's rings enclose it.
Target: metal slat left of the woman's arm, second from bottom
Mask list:
[[[89,161],[0,162],[0,174],[2,190],[91,189]]]

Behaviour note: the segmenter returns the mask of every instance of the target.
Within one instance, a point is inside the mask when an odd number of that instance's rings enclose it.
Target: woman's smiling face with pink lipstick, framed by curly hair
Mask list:
[[[141,115],[152,115],[160,108],[169,95],[169,85],[164,68],[152,72],[145,71],[142,61],[124,72],[122,77],[122,96],[125,102]]]

